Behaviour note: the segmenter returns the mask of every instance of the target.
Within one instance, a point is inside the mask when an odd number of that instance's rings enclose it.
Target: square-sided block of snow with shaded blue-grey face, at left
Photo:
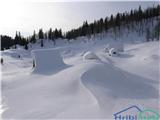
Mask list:
[[[59,51],[56,49],[33,50],[31,54],[35,64],[33,72],[53,72],[66,66]]]

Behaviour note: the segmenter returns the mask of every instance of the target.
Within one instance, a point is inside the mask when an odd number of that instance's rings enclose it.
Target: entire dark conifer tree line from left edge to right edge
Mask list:
[[[83,25],[77,29],[72,29],[66,33],[62,33],[62,29],[52,29],[44,32],[43,29],[39,29],[38,33],[36,31],[29,37],[23,37],[20,32],[16,32],[15,38],[11,38],[7,35],[1,35],[1,50],[9,49],[11,46],[16,48],[17,45],[24,46],[25,49],[28,49],[28,43],[36,43],[37,40],[41,41],[41,47],[43,47],[43,40],[49,39],[56,44],[56,39],[65,38],[65,39],[75,39],[80,36],[95,35],[97,33],[108,32],[109,29],[113,29],[115,38],[117,34],[120,34],[120,30],[125,27],[130,27],[133,29],[135,25],[139,26],[138,32],[139,35],[143,34],[143,22],[147,20],[152,20],[160,16],[160,5],[149,7],[145,10],[139,9],[131,10],[130,12],[117,13],[115,16],[111,14],[110,17],[101,18],[95,20],[93,23],[88,23],[87,20],[83,22]],[[149,28],[146,30],[146,38],[151,37],[151,31]],[[160,34],[160,22],[155,27],[154,37],[159,39]],[[153,37],[153,35],[152,35]]]

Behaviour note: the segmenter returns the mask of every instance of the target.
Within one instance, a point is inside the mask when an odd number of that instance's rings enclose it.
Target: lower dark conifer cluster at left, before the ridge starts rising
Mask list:
[[[43,32],[43,29],[39,29],[38,33],[36,31],[33,32],[33,35],[29,37],[23,37],[20,32],[16,31],[15,38],[9,37],[7,35],[1,35],[1,50],[9,49],[13,46],[15,49],[17,45],[24,46],[25,49],[28,49],[28,43],[36,43],[37,40],[41,41],[41,47],[43,47],[43,40],[49,39],[52,40],[55,44],[55,40],[58,38],[63,38],[62,30],[55,29],[52,30],[50,28],[47,32]]]

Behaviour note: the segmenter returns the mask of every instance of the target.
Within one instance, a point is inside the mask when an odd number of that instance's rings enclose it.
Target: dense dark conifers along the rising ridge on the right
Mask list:
[[[95,35],[96,33],[108,32],[110,28],[120,31],[122,26],[127,25],[140,25],[142,26],[143,20],[154,18],[160,15],[160,5],[147,8],[142,10],[139,6],[138,10],[131,10],[130,12],[117,13],[115,16],[111,15],[105,19],[101,18],[100,20],[95,20],[93,23],[88,24],[87,21],[83,23],[77,29],[72,29],[66,33],[67,39],[75,39],[79,36],[90,36]],[[114,32],[117,32],[114,31]],[[116,34],[116,33],[115,33]]]

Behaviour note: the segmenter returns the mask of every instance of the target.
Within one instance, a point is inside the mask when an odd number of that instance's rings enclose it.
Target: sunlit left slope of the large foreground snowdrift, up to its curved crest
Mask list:
[[[48,76],[30,74],[19,77],[10,88],[3,89],[7,106],[2,117],[103,118],[96,98],[81,82],[86,68],[86,64],[81,64]]]

